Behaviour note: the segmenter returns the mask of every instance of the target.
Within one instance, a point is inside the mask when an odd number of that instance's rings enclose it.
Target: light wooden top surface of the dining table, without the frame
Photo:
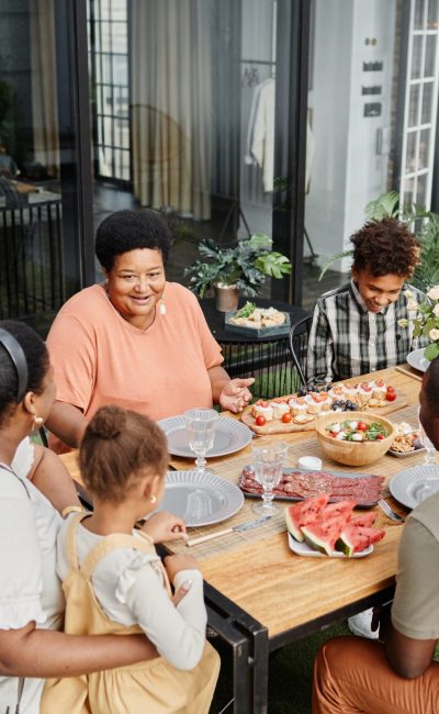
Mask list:
[[[420,382],[408,375],[403,375],[395,368],[385,369],[364,379],[382,378],[395,387],[398,393],[405,394],[409,405],[416,405]],[[416,413],[412,409],[413,414]],[[232,415],[230,415],[232,416]],[[402,421],[398,411],[387,419]],[[258,437],[258,443],[282,438],[292,446],[301,440],[313,439],[313,432],[282,434],[280,436]],[[380,473],[389,479],[409,466],[416,466],[421,455],[414,455],[402,460],[385,455],[380,461],[370,467],[342,467],[331,459],[326,459],[314,436],[313,449],[309,453],[323,459],[323,468],[329,470],[368,471]],[[251,445],[239,453],[245,459],[251,460]],[[236,455],[209,459],[215,473],[238,481],[240,471],[232,472],[229,465]],[[65,455],[64,460],[71,475],[77,478],[78,468],[76,455]],[[236,459],[235,459],[236,460]],[[172,458],[172,466],[178,470],[193,468],[192,459]],[[394,503],[396,510],[404,509]],[[223,593],[230,601],[246,611],[251,617],[268,628],[269,637],[282,633],[300,631],[306,623],[337,613],[352,603],[364,601],[389,589],[394,583],[396,571],[397,546],[402,527],[389,521],[379,509],[378,524],[385,527],[386,536],[379,543],[373,554],[361,559],[336,559],[301,557],[292,554],[288,546],[286,533],[267,533],[261,538],[249,538],[236,542],[236,547],[207,556],[201,561],[205,581]],[[255,516],[256,517],[256,516]],[[239,514],[227,521],[227,526],[239,523]],[[224,527],[219,524],[217,528]],[[215,529],[211,526],[210,529]],[[190,529],[194,531],[194,529]],[[199,533],[205,529],[199,528]],[[250,532],[251,533],[251,532]],[[212,545],[215,540],[212,542]]]

